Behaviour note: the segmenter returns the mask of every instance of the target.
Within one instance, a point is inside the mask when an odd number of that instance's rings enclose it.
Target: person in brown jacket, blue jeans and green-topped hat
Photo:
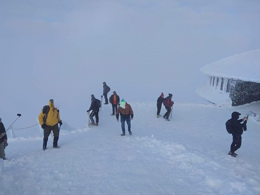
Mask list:
[[[126,103],[124,99],[121,100],[120,106],[117,108],[117,112],[116,112],[117,122],[119,122],[119,113],[120,113],[121,128],[123,132],[121,135],[122,136],[125,135],[125,121],[128,126],[129,135],[132,135],[131,120],[133,120],[134,113],[132,107],[128,103]]]

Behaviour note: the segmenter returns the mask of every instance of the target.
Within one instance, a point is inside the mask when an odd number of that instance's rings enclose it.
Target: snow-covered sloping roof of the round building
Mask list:
[[[200,71],[210,76],[260,83],[260,49],[218,60]]]

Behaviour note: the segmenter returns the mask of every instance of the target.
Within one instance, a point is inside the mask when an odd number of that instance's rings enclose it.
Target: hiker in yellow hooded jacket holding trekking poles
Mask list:
[[[49,100],[49,111],[46,107],[45,109],[42,109],[41,113],[39,114],[39,123],[43,128],[43,150],[47,149],[47,142],[49,139],[49,135],[51,131],[53,132],[53,148],[60,148],[58,146],[58,140],[59,140],[59,134],[60,129],[58,127],[58,123],[62,125],[62,122],[60,120],[60,112],[57,108],[54,106],[53,99]]]

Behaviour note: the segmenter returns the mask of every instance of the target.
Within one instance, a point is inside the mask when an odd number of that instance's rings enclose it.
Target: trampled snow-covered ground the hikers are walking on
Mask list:
[[[233,111],[243,117],[260,103],[175,103],[171,121],[156,117],[156,103],[129,103],[132,136],[120,136],[110,104],[98,127],[61,130],[60,149],[50,137],[44,152],[39,130],[14,130],[9,160],[0,161],[0,194],[260,194],[260,123],[249,117],[237,158],[227,155],[232,135],[225,128]]]

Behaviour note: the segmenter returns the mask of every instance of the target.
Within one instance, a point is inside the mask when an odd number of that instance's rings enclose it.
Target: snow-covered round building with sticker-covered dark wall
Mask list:
[[[211,103],[239,106],[260,100],[260,49],[218,60],[200,71],[208,80],[196,92]]]

